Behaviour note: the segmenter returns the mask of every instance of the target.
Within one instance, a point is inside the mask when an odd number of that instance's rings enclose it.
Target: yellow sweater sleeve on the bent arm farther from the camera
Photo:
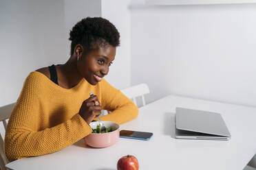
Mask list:
[[[122,92],[111,86],[105,79],[102,80],[101,87],[101,106],[104,110],[111,113],[100,117],[102,121],[114,121],[116,123],[125,123],[138,116],[138,107],[131,99]]]

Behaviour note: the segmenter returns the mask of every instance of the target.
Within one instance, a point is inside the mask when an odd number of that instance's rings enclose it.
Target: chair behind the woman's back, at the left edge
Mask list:
[[[14,108],[16,103],[8,104],[6,106],[0,107],[0,121],[3,122],[4,130],[6,130],[7,122],[6,120],[9,119],[10,114],[12,113],[12,110]],[[3,145],[3,137],[0,134],[0,167],[1,169],[6,169],[6,164],[9,162],[6,158],[6,154],[4,154],[4,145]]]

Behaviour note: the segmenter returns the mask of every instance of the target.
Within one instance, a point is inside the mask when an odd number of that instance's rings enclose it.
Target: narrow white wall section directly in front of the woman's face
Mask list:
[[[116,58],[109,68],[106,80],[116,88],[131,85],[131,21],[130,0],[102,0],[102,16],[113,23],[120,33],[120,47],[116,48]]]

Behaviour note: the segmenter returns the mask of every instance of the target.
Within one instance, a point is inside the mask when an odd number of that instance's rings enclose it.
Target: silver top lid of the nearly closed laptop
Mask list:
[[[222,115],[216,112],[176,108],[175,123],[178,130],[231,136]]]

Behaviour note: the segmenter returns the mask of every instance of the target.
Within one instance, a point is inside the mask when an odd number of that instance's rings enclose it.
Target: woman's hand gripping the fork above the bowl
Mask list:
[[[80,116],[89,124],[95,117],[98,117],[101,113],[100,101],[98,101],[98,97],[93,95],[89,97],[85,101],[78,112]]]

